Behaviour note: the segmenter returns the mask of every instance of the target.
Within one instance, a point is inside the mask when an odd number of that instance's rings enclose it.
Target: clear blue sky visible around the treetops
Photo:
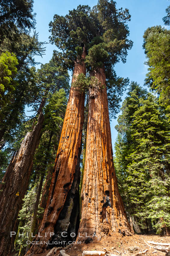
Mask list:
[[[164,26],[162,17],[166,15],[165,9],[170,5],[170,2],[168,0],[117,0],[116,2],[117,8],[129,9],[131,14],[131,21],[128,23],[130,30],[129,38],[134,44],[128,52],[126,63],[116,64],[115,70],[118,76],[128,77],[130,81],[134,80],[143,85],[145,74],[147,73],[147,66],[144,65],[144,50],[142,49],[143,34],[148,27]],[[69,10],[76,8],[78,5],[93,7],[96,4],[97,0],[35,0],[34,12],[36,12],[36,31],[39,32],[39,40],[49,42],[48,24],[53,20],[54,14],[66,15]],[[46,45],[46,54],[43,58],[37,57],[36,61],[43,64],[47,63],[51,59],[54,49],[54,45]],[[112,120],[110,123],[113,148],[117,136],[114,128],[116,124],[116,120]]]

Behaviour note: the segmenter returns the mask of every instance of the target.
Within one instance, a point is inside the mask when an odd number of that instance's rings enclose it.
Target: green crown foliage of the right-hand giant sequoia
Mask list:
[[[91,16],[97,29],[88,44],[85,62],[90,72],[104,66],[110,117],[115,118],[119,112],[121,96],[129,80],[117,77],[114,65],[119,61],[125,63],[127,50],[133,45],[133,42],[127,38],[129,36],[127,21],[130,20],[131,15],[128,9],[116,9],[116,2],[112,0],[99,0],[92,8]]]

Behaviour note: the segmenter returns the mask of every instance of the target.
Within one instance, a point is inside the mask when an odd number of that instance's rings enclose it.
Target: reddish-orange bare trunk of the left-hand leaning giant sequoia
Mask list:
[[[75,62],[72,83],[80,73],[85,74],[84,58],[85,49],[82,60]],[[39,245],[32,246],[27,254],[32,250],[34,254],[42,253],[47,247],[44,242],[48,242],[51,239],[50,233],[54,232],[54,226],[64,207],[67,194],[71,189],[82,139],[84,101],[85,94],[72,86],[54,164],[48,201],[39,229],[40,236],[42,237],[36,238],[36,240],[39,240]],[[41,242],[42,244],[40,244]]]

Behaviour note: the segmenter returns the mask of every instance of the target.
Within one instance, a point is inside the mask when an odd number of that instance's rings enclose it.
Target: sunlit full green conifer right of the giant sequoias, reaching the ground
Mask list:
[[[136,84],[128,95],[116,126],[119,135],[115,147],[123,201],[128,215],[135,217],[145,232],[150,219],[156,223],[157,232],[168,232],[168,122],[152,94]],[[156,200],[160,204],[154,205]]]

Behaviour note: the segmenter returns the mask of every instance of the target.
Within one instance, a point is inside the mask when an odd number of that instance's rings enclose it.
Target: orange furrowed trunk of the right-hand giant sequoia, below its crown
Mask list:
[[[101,83],[89,89],[85,170],[82,187],[82,219],[77,240],[92,242],[119,232],[131,235],[113,164],[104,68],[91,74]],[[104,89],[101,88],[104,86]],[[96,236],[95,236],[96,234]],[[87,237],[90,236],[90,237]]]

